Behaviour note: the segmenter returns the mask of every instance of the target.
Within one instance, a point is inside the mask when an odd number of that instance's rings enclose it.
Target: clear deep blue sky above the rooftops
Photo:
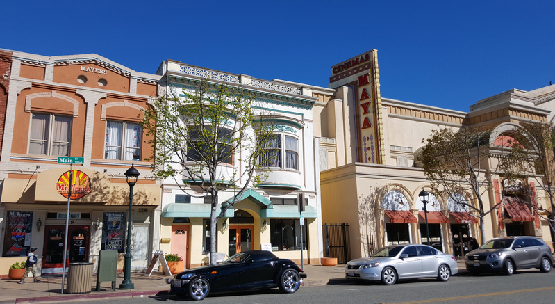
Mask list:
[[[555,83],[555,1],[22,1],[0,48],[96,53],[139,72],[165,59],[326,87],[330,67],[378,49],[382,97],[468,111]]]

